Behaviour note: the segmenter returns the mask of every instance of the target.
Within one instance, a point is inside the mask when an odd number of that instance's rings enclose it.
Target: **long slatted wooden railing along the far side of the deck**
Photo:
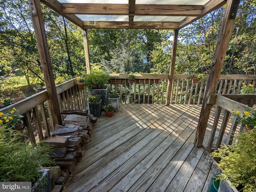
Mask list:
[[[127,74],[110,74],[110,87],[120,91],[122,103],[164,104],[168,74],[136,74],[133,84]],[[197,84],[192,82],[197,74],[174,74],[170,104],[202,104],[208,75]],[[243,85],[256,83],[256,75],[221,75],[216,93],[239,94]]]

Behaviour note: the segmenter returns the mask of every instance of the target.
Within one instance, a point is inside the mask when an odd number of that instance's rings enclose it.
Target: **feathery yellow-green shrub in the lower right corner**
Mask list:
[[[222,145],[211,153],[221,158],[218,168],[222,169],[220,180],[230,180],[233,186],[244,186],[243,192],[256,191],[256,129],[239,132],[232,145]]]

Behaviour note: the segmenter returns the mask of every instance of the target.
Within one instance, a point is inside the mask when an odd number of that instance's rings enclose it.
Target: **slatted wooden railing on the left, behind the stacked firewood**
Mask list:
[[[77,89],[76,78],[57,85],[56,91],[58,94],[58,101],[60,102],[60,111],[86,108],[86,90]],[[0,112],[8,113],[8,110],[11,110],[14,107],[18,110],[18,114],[24,116],[24,123],[26,124],[31,143],[36,142],[36,135],[38,135],[39,140],[43,140],[45,136],[50,136],[50,132],[54,127],[52,126],[52,116],[46,90],[2,108],[0,109]],[[48,118],[50,118],[50,125],[48,123]],[[35,125],[36,131],[33,129],[34,126],[32,124]],[[52,130],[50,130],[50,127]]]

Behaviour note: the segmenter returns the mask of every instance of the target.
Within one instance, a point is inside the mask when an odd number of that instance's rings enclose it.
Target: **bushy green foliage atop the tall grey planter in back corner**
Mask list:
[[[93,69],[90,74],[87,75],[85,85],[89,89],[105,89],[110,80],[109,74],[101,69]]]

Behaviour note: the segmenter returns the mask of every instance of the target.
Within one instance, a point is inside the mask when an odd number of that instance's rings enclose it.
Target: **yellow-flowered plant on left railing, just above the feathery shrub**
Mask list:
[[[7,114],[0,112],[0,124],[6,125],[9,128],[14,129],[18,127],[19,124],[22,122],[21,118],[24,116],[15,114],[16,108],[12,108],[9,110]]]

